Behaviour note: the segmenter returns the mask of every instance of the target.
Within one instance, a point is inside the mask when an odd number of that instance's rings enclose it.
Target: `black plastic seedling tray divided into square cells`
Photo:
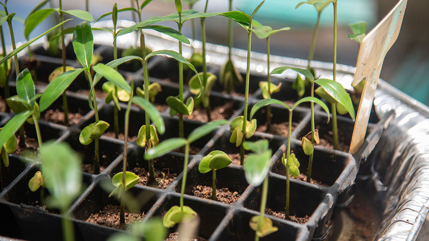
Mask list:
[[[75,61],[76,56],[73,49],[67,47],[67,63],[78,67],[79,63]],[[118,49],[119,52],[122,49]],[[47,82],[49,73],[60,66],[61,60],[58,57],[49,56],[42,48],[34,49],[34,58],[39,61],[40,66],[35,70],[37,75],[36,90],[41,93]],[[94,46],[94,54],[103,56],[103,63],[112,59],[112,47],[104,45]],[[21,61],[22,63],[22,61]],[[177,63],[167,57],[154,57],[148,64],[149,79],[161,84],[162,92],[156,97],[157,105],[165,105],[167,96],[178,94],[178,83],[176,82]],[[135,86],[142,87],[143,76],[139,65],[130,63],[119,67],[119,71],[125,79],[132,79]],[[220,66],[208,65],[208,71],[219,75]],[[185,72],[186,77],[189,73]],[[245,74],[242,73],[244,76]],[[10,76],[11,93],[13,93],[15,75]],[[250,77],[249,110],[262,98],[258,90],[259,81],[265,80],[263,75],[251,75]],[[105,80],[97,84],[96,89],[101,90],[101,85]],[[297,96],[291,86],[293,80],[273,78],[275,84],[282,81],[281,91],[273,95],[273,98],[294,102]],[[62,123],[49,123],[39,121],[42,130],[42,140],[56,140],[58,142],[67,142],[73,149],[82,155],[83,163],[91,164],[94,158],[93,145],[83,146],[79,143],[79,133],[83,127],[94,122],[94,111],[88,107],[88,96],[85,90],[88,89],[88,83],[84,75],[79,75],[76,81],[66,92],[69,99],[69,109],[71,112],[82,114],[79,123],[63,125]],[[86,92],[88,93],[88,92]],[[236,91],[229,95],[223,91],[221,84],[217,83],[211,92],[211,108],[231,102],[233,111],[226,116],[229,120],[242,115],[244,110],[244,85],[236,88]],[[184,97],[191,93],[185,86]],[[99,98],[100,120],[113,123],[113,105],[105,104],[103,98]],[[61,98],[50,107],[50,109],[60,109],[62,105]],[[119,112],[120,131],[123,131],[124,108]],[[317,105],[316,105],[317,106]],[[255,114],[258,125],[264,124],[266,114],[264,110]],[[273,123],[287,121],[288,111],[278,106],[272,106]],[[42,116],[45,112],[42,113]],[[202,114],[205,115],[204,112]],[[0,114],[0,124],[4,125],[13,114]],[[296,129],[292,132],[291,150],[296,154],[301,163],[300,171],[307,172],[308,157],[302,151],[301,141],[303,135],[310,130],[310,108],[307,106],[297,107],[293,112],[293,122],[296,123]],[[369,125],[369,132],[366,136],[366,142],[357,154],[354,156],[342,151],[335,151],[329,148],[315,147],[313,162],[313,178],[322,182],[324,185],[309,184],[305,181],[299,181],[291,178],[290,183],[290,210],[292,214],[299,217],[308,215],[309,220],[305,224],[294,223],[290,220],[284,220],[267,215],[274,226],[279,229],[277,232],[261,238],[261,240],[320,240],[326,237],[331,226],[329,219],[338,200],[339,205],[345,206],[353,198],[350,187],[353,186],[356,173],[361,162],[366,160],[369,153],[381,136],[386,120],[378,120],[375,113],[372,113]],[[316,125],[320,125],[321,134],[330,129],[330,124],[326,124],[327,116],[319,107],[316,107]],[[160,135],[160,141],[177,137],[178,118],[170,117],[168,108],[162,109],[162,117],[166,124],[166,133]],[[130,114],[129,136],[136,136],[142,124],[144,124],[144,111],[133,106]],[[203,123],[184,117],[185,136],[196,127]],[[343,133],[344,142],[350,143],[351,133],[353,131],[353,121],[350,117],[338,117],[338,127],[340,133]],[[27,136],[34,137],[33,126],[26,124],[25,131]],[[112,131],[110,127],[107,131]],[[200,217],[198,235],[210,241],[221,240],[252,240],[254,231],[249,227],[249,220],[252,216],[258,214],[260,205],[261,188],[249,186],[245,181],[244,169],[242,166],[231,164],[220,169],[218,175],[218,188],[228,187],[232,192],[238,192],[241,196],[233,204],[224,204],[211,199],[201,199],[192,195],[192,187],[195,185],[210,185],[211,175],[198,172],[199,161],[213,150],[222,150],[227,154],[239,153],[239,148],[229,143],[230,130],[228,126],[220,127],[215,132],[202,137],[193,143],[198,148],[198,153],[190,156],[190,163],[186,167],[188,170],[187,187],[185,188],[185,205],[195,210]],[[268,133],[257,132],[250,140],[258,139],[269,140],[269,147],[272,149],[271,168],[269,172],[269,192],[267,207],[274,211],[284,211],[286,177],[284,166],[281,164],[281,156],[286,151],[287,137],[277,136]],[[103,172],[99,175],[93,175],[84,172],[84,186],[86,189],[82,195],[74,202],[69,209],[72,214],[76,230],[77,240],[105,240],[116,232],[124,232],[119,229],[113,229],[101,225],[86,223],[85,220],[93,213],[102,210],[108,204],[119,205],[114,198],[108,198],[109,193],[104,190],[104,186],[111,184],[111,178],[117,172],[121,171],[124,141],[113,139],[107,136],[100,138],[100,166]],[[147,166],[147,161],[143,159],[145,148],[141,148],[135,142],[128,143],[128,169]],[[10,166],[2,166],[3,184],[6,187],[0,193],[0,213],[2,220],[6,225],[0,225],[0,236],[12,238],[22,238],[26,240],[61,240],[60,215],[56,210],[43,210],[32,207],[30,204],[36,202],[39,192],[31,193],[28,189],[28,181],[38,170],[38,165],[28,165],[21,162],[18,155],[11,154]],[[21,158],[22,159],[22,158]],[[169,172],[175,172],[178,177],[166,189],[146,187],[137,184],[131,188],[131,195],[136,197],[140,204],[140,211],[144,212],[145,218],[162,216],[173,205],[178,205],[181,188],[181,178],[183,174],[184,154],[170,152],[163,157],[155,160],[156,169],[169,169]],[[3,165],[3,163],[1,164]],[[171,228],[169,232],[175,232]]]

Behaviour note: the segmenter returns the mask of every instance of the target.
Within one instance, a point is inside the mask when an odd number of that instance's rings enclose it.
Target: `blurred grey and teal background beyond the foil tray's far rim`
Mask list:
[[[311,45],[311,38],[316,23],[317,12],[311,5],[295,9],[301,0],[266,0],[255,16],[257,21],[269,25],[273,29],[291,27],[272,36],[271,54],[306,59]],[[338,63],[355,65],[358,44],[347,38],[351,33],[348,24],[356,21],[366,21],[370,31],[389,11],[398,0],[339,0],[338,1]],[[39,0],[9,0],[9,13],[16,12],[21,18],[26,18],[30,11],[39,3]],[[57,0],[52,0],[54,5]],[[112,10],[113,4],[118,3],[118,9],[129,7],[134,0],[89,0],[89,12],[98,18],[105,12]],[[142,2],[140,0],[139,2]],[[183,1],[182,1],[183,2]],[[260,3],[260,0],[233,0],[233,10],[242,9],[251,13]],[[184,8],[185,3],[182,3]],[[204,0],[198,1],[194,9],[203,11]],[[229,0],[209,0],[208,12],[228,11]],[[57,5],[55,6],[57,7]],[[85,9],[85,0],[63,0],[64,9]],[[152,16],[167,15],[175,12],[173,0],[153,0],[143,13],[142,19]],[[390,82],[400,90],[408,93],[417,100],[429,104],[429,30],[426,13],[429,12],[428,0],[409,0],[405,11],[402,29],[395,45],[388,52],[384,61],[381,78]],[[314,60],[332,62],[333,40],[333,9],[328,6],[321,16],[320,30],[317,38]],[[135,20],[131,12],[118,13],[118,19]],[[109,20],[106,17],[103,20]],[[68,27],[79,21],[69,21]],[[54,18],[48,18],[33,30],[31,37],[47,30],[54,24]],[[169,27],[176,27],[173,22],[163,22]],[[222,17],[213,17],[206,20],[207,41],[215,44],[227,45],[227,20]],[[196,36],[199,36],[199,21],[195,21]],[[25,42],[23,24],[13,22],[17,42]],[[7,28],[7,27],[6,27]],[[5,31],[7,31],[5,29]],[[189,21],[183,27],[184,35],[190,37]],[[197,39],[199,39],[197,37]],[[10,39],[6,40],[6,43]],[[234,24],[234,47],[247,48],[247,34],[238,24]],[[266,41],[257,37],[252,38],[252,51],[266,52]]]

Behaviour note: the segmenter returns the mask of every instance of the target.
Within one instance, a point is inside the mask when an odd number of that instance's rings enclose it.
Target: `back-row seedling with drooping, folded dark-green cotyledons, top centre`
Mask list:
[[[233,11],[233,0],[230,0],[229,11]],[[228,60],[221,68],[221,75],[219,81],[224,85],[224,90],[227,90],[228,94],[234,90],[235,85],[243,83],[243,77],[237,70],[236,66],[231,59],[231,50],[233,48],[233,21],[231,18],[228,19]]]

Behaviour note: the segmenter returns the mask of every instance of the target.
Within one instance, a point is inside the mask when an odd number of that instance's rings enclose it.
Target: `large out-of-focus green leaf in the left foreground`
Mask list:
[[[45,143],[40,149],[42,186],[49,187],[49,207],[67,210],[82,193],[82,160],[66,142]],[[45,184],[44,184],[45,183]]]

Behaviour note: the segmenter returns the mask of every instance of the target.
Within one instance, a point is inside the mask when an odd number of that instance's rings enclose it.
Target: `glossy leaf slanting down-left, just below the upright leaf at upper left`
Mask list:
[[[78,77],[83,69],[72,69],[64,72],[46,87],[45,91],[40,97],[39,107],[40,111],[47,109]]]

